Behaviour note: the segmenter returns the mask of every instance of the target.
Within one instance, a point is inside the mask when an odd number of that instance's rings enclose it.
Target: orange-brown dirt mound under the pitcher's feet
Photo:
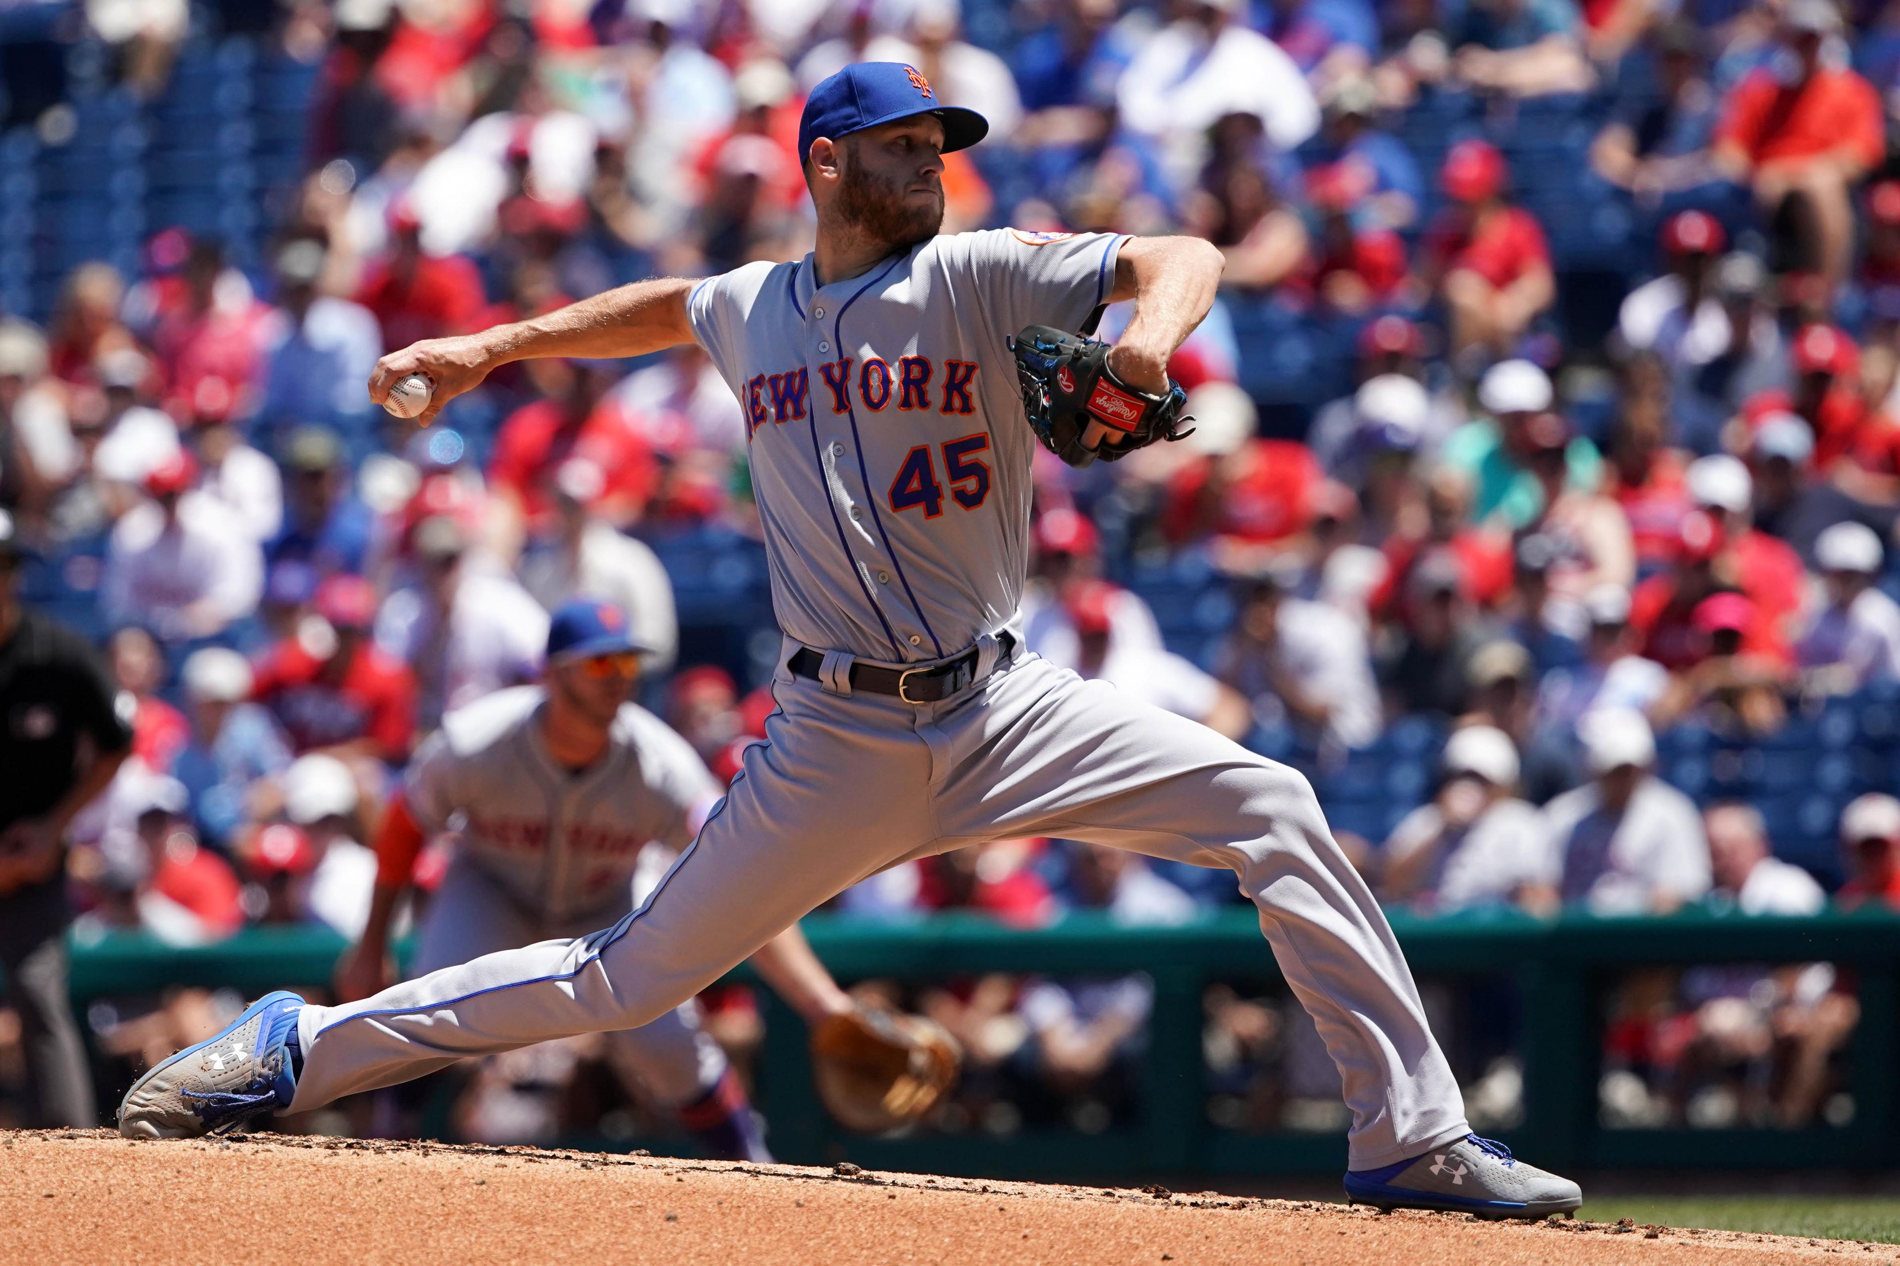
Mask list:
[[[1792,1262],[1892,1249],[1590,1222],[281,1135],[0,1133],[0,1262]]]

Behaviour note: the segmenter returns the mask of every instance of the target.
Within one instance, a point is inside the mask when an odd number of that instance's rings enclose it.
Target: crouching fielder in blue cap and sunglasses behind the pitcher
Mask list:
[[[376,895],[363,939],[338,968],[342,1000],[390,983],[390,926],[429,834],[458,827],[454,859],[416,937],[412,975],[610,924],[633,909],[640,854],[692,842],[718,785],[686,739],[629,701],[646,654],[623,610],[578,599],[549,622],[540,686],[500,690],[443,720],[378,831]],[[828,1042],[859,1028],[851,998],[796,926],[764,945],[752,966]],[[855,1040],[859,1053],[880,1042],[864,1032]],[[608,1049],[616,1068],[676,1110],[709,1154],[771,1160],[745,1089],[699,1026],[697,1002],[610,1034]],[[821,1051],[825,1099],[849,1118],[857,1101],[846,1095],[840,1104],[826,1085],[832,1072]],[[923,1110],[937,1089],[901,1093]]]

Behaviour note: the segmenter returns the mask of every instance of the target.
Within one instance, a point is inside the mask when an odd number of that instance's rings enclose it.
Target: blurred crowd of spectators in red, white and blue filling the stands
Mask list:
[[[137,99],[218,38],[218,10],[182,0],[36,8],[82,23]],[[0,555],[99,644],[133,732],[74,823],[82,933],[355,935],[363,840],[416,741],[532,681],[568,597],[631,612],[661,648],[646,701],[737,768],[770,711],[756,663],[680,639],[674,591],[703,576],[661,561],[756,536],[741,411],[707,357],[511,365],[429,430],[363,384],[418,338],[802,255],[802,97],[859,59],[908,61],[990,118],[946,160],[948,232],[1182,232],[1227,255],[1172,365],[1193,435],[1083,471],[1039,454],[1032,650],[1315,770],[1429,720],[1450,738],[1408,812],[1336,823],[1396,905],[1805,914],[1826,884],[1900,907],[1892,768],[1824,823],[1837,857],[1801,857],[1818,882],[1761,812],[1699,806],[1657,758],[1674,732],[1771,741],[1900,686],[1894,6],[222,10],[319,67],[304,173],[260,241],[154,226],[135,272],[87,262],[51,310],[0,319]],[[1421,144],[1429,118],[1469,124]],[[1543,177],[1495,143],[1552,118],[1588,129],[1571,175],[1632,226],[1617,270],[1564,266],[1520,198]],[[1351,331],[1332,399],[1264,407],[1262,314]],[[1212,627],[1184,633],[1144,584],[1182,572]],[[424,890],[450,846],[424,854]],[[1009,840],[836,905],[1041,926],[1235,899],[1214,873]],[[1820,1110],[1852,1028],[1832,977],[1678,992],[1630,1061],[1664,1059],[1674,1025],[1670,1068],[1773,1055],[1759,1112]],[[1096,1120],[1121,1110],[1150,994],[996,977],[920,1006],[978,1070],[1087,1085],[1070,1114]],[[1210,1000],[1208,1049],[1244,1063],[1275,1026]]]

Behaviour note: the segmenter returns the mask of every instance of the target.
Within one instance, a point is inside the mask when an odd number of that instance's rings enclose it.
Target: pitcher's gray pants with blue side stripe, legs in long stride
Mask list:
[[[790,677],[790,650],[766,741],[636,911],[574,941],[306,1007],[293,1110],[471,1055],[646,1025],[878,871],[1056,834],[1237,874],[1340,1066],[1355,1169],[1469,1131],[1398,943],[1296,770],[1034,656],[910,705]]]

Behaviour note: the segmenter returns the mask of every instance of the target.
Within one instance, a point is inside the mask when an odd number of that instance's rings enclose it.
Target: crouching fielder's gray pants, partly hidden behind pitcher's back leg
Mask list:
[[[416,933],[410,975],[429,975],[549,937],[572,941],[623,916],[627,907],[629,901],[621,899],[618,907],[551,926],[522,911],[479,865],[456,857]],[[663,1108],[694,1103],[726,1076],[726,1051],[699,1028],[699,1004],[692,998],[648,1025],[612,1032],[608,1049],[614,1068],[633,1076]]]

